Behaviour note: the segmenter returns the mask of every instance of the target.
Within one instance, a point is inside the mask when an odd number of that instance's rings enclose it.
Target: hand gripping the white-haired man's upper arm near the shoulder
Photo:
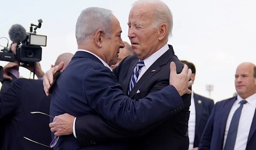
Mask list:
[[[190,94],[191,90],[189,90],[189,87],[191,87],[193,83],[192,80],[189,81],[192,75],[191,69],[184,64],[181,73],[177,74],[175,62],[171,62],[170,70],[170,85],[173,85],[176,88],[180,96]]]

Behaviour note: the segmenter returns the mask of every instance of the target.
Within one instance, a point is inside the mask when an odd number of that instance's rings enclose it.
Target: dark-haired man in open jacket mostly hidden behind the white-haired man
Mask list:
[[[192,62],[186,60],[181,60],[183,64],[186,64],[192,71],[191,80],[195,81],[195,65]],[[193,89],[193,87],[192,87]],[[192,90],[191,95],[191,105],[189,107],[189,150],[198,150],[198,145],[204,128],[207,124],[207,120],[214,107],[214,102],[212,99],[206,98],[204,96],[194,93]]]

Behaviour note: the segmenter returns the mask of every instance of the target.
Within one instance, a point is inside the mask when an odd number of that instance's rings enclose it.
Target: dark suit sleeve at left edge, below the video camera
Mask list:
[[[22,80],[17,80],[4,93],[0,94],[0,119],[17,110],[20,105],[21,85]]]

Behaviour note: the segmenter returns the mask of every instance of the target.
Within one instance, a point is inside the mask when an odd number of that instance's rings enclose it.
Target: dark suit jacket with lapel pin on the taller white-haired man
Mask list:
[[[128,96],[132,99],[140,99],[169,85],[170,63],[172,61],[175,62],[177,72],[180,73],[183,63],[175,56],[172,46],[169,45],[169,50],[148,68]],[[126,94],[128,94],[132,71],[137,62],[138,58],[131,55],[123,59],[113,71]],[[140,93],[137,93],[137,90],[140,90]],[[112,125],[108,120],[101,121],[100,117],[97,118],[97,116],[78,117],[76,121],[77,139],[79,142],[86,143],[92,140],[107,141],[112,138],[140,136],[131,139],[131,150],[187,150],[189,139],[186,132],[191,94],[185,94],[182,98],[187,100],[185,101],[187,103],[184,104],[186,108],[182,110],[177,108],[172,112],[176,114],[171,118],[169,116],[137,132],[124,131]]]

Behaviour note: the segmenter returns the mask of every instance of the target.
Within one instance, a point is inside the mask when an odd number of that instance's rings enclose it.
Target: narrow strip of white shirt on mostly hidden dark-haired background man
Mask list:
[[[195,100],[194,100],[194,91],[191,93],[191,105],[189,107],[190,115],[189,115],[189,150],[194,148],[194,140],[195,140]]]

